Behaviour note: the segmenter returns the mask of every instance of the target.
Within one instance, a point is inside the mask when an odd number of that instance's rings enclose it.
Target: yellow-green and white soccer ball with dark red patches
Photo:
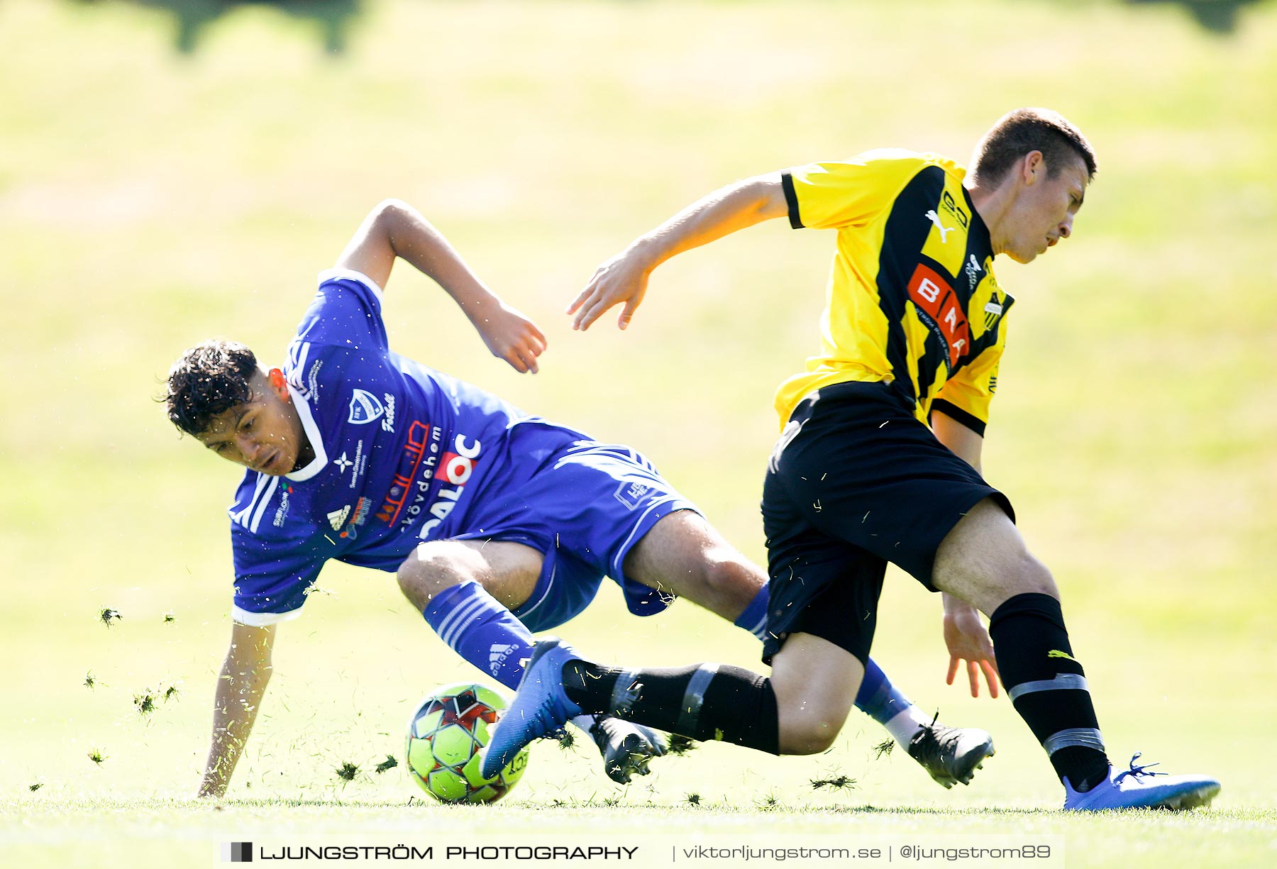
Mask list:
[[[421,701],[407,722],[407,768],[441,803],[493,803],[513,787],[527,768],[527,749],[493,778],[479,775],[479,749],[497,724],[506,701],[490,688],[469,681],[443,685]]]

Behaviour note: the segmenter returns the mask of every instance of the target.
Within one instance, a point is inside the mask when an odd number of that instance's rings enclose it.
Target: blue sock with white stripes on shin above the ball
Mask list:
[[[478,582],[444,588],[421,610],[457,655],[507,688],[518,688],[533,634]]]

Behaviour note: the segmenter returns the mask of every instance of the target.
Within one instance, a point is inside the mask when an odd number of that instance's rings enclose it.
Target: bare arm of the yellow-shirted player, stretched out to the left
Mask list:
[[[700,199],[605,262],[567,306],[573,329],[589,329],[596,319],[624,302],[617,327],[630,325],[647,292],[653,269],[670,256],[700,248],[747,226],[788,213],[780,174],[737,181]]]

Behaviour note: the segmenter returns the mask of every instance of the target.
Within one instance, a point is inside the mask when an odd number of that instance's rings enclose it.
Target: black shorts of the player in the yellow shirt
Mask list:
[[[936,550],[972,507],[1011,503],[936,440],[886,383],[805,398],[762,486],[770,605],[762,660],[810,633],[868,660],[886,563],[930,591]]]

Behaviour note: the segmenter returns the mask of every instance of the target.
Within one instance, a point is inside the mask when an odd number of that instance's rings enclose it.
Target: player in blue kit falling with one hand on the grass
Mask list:
[[[493,355],[538,369],[545,338],[480,282],[411,207],[387,200],[356,231],[289,345],[266,370],[244,345],[188,350],[167,383],[170,420],[248,470],[230,508],[235,597],[199,794],[221,796],[253,727],[276,625],[298,618],[326,561],[397,574],[458,655],[516,687],[533,632],[581,613],[604,576],[631,613],[681,596],[762,638],[766,574],[746,560],[636,450],[529,416],[389,350],[383,287],[396,258],[462,308]],[[991,676],[978,621],[950,643],[951,671]],[[923,716],[872,665],[857,706],[940,784],[971,781],[992,754],[976,729]],[[580,716],[609,777],[646,773],[656,731]]]

